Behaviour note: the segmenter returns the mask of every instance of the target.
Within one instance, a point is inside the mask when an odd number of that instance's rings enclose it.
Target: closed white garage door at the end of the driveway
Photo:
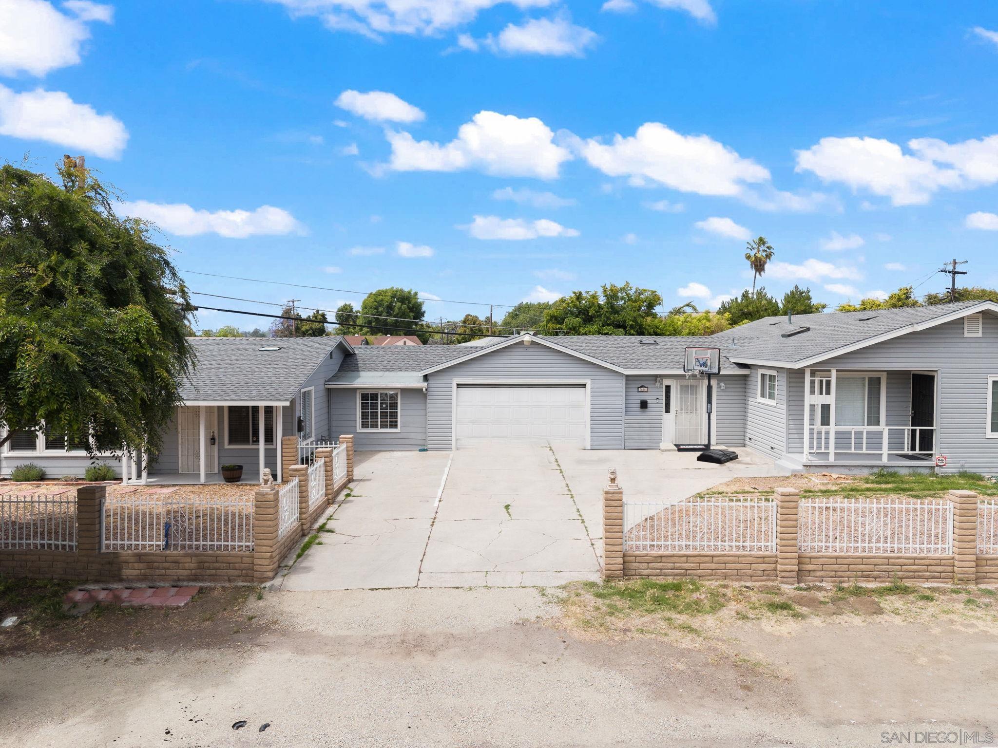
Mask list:
[[[458,385],[458,447],[482,442],[586,444],[583,385]]]

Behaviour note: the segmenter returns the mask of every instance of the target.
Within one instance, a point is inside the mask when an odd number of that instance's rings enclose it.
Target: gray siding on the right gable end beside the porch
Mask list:
[[[987,439],[988,376],[998,375],[998,319],[984,314],[983,335],[963,337],[963,320],[946,322],[862,348],[821,363],[854,370],[908,369],[938,372],[937,453],[946,472],[998,473],[998,439]],[[903,400],[889,406],[892,417]],[[907,423],[907,417],[902,419]]]

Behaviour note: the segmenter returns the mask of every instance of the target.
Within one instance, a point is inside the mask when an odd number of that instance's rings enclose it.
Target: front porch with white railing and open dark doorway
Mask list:
[[[805,369],[803,450],[787,457],[804,468],[933,467],[936,378],[934,371]]]

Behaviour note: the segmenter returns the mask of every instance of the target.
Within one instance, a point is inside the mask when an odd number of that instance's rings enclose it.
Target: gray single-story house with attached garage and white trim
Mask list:
[[[198,365],[150,474],[276,471],[280,437],[357,450],[495,441],[675,449],[707,439],[687,347],[721,349],[715,444],[791,470],[998,473],[998,304],[768,317],[710,337],[524,333],[484,345],[352,347],[340,337],[196,338]],[[32,435],[0,455],[56,458]],[[85,455],[76,458],[78,470]],[[63,450],[59,471],[74,474]]]

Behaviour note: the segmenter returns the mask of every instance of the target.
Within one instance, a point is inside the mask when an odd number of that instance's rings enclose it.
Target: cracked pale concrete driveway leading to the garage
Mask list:
[[[548,586],[596,579],[603,487],[616,468],[625,497],[679,501],[739,476],[778,475],[748,450],[718,466],[695,453],[493,444],[444,452],[358,453],[352,494],[322,545],[283,589]]]

